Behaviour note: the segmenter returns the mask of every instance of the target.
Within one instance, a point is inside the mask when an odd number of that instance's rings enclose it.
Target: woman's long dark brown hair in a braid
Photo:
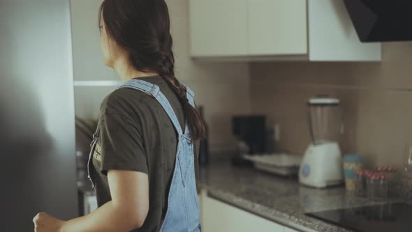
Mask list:
[[[101,17],[106,33],[126,52],[138,71],[156,72],[168,82],[182,103],[192,141],[205,137],[200,115],[186,99],[186,88],[175,78],[170,18],[164,0],[105,0]]]

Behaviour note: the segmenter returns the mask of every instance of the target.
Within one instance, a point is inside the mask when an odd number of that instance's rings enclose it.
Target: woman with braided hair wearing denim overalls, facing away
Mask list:
[[[105,64],[126,82],[103,101],[92,143],[99,208],[68,222],[40,213],[35,231],[200,231],[193,144],[205,128],[175,78],[168,7],[105,0],[100,11]]]

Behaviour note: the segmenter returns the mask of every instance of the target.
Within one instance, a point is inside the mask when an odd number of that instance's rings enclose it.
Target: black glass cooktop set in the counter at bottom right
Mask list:
[[[353,231],[412,231],[412,206],[405,203],[311,212],[307,215]]]

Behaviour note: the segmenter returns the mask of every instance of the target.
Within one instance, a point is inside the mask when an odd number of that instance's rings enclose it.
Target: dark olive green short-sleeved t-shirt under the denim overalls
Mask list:
[[[181,103],[167,82],[159,76],[140,78],[158,85],[170,102],[184,130]],[[100,133],[93,153],[91,178],[98,207],[111,201],[107,173],[128,170],[149,176],[149,214],[140,231],[159,231],[168,204],[168,192],[175,167],[177,131],[161,104],[135,89],[117,89],[101,105]],[[198,145],[195,149],[198,176]],[[136,205],[136,207],[139,207]]]

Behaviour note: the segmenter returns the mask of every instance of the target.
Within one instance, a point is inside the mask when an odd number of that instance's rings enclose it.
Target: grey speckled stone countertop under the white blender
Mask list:
[[[309,217],[305,212],[370,205],[366,198],[346,193],[344,187],[303,187],[296,178],[235,167],[229,161],[200,168],[200,189],[206,189],[212,198],[298,231],[348,231]]]

